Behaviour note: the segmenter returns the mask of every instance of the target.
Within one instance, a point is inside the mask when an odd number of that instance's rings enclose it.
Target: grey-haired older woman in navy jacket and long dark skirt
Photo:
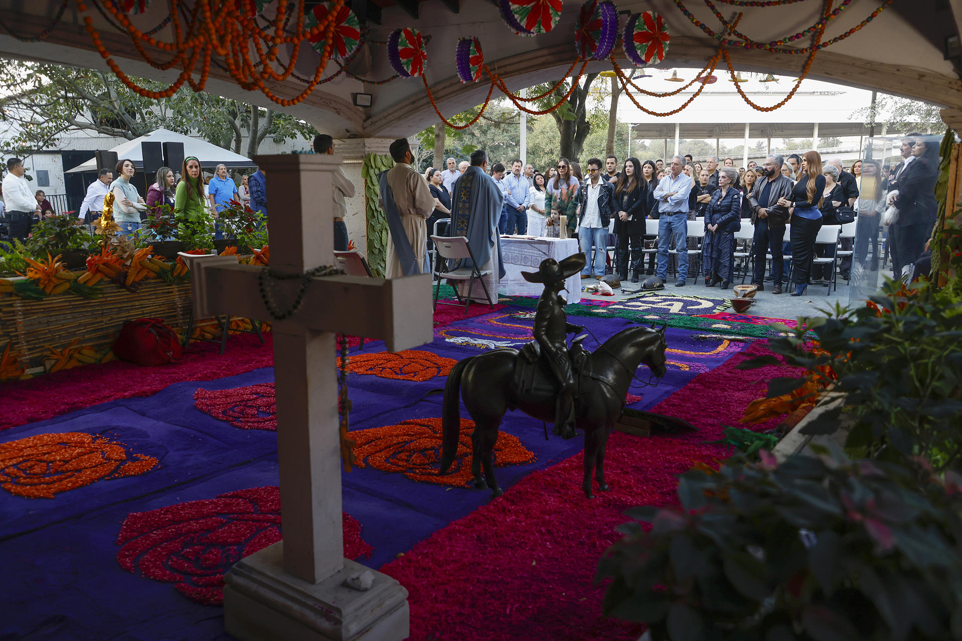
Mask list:
[[[702,256],[707,285],[727,289],[735,270],[735,232],[742,229],[742,193],[735,187],[738,170],[719,167],[719,188],[705,209]]]

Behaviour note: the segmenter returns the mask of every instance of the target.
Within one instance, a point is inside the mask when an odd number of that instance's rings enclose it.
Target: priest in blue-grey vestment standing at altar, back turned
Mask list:
[[[475,282],[468,294],[468,283],[459,287],[462,296],[470,296],[483,303],[497,303],[497,287],[504,278],[501,263],[501,236],[497,223],[504,208],[504,195],[485,170],[488,154],[477,150],[471,154],[471,166],[454,183],[451,191],[451,225],[448,234],[466,236],[471,255],[477,260],[481,271],[491,270],[483,278],[484,285]],[[470,259],[455,261],[458,267],[468,267]],[[487,288],[487,295],[485,294]]]

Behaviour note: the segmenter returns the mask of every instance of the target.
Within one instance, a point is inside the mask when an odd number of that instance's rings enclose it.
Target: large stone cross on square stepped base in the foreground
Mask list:
[[[255,159],[267,176],[270,268],[302,274],[334,264],[333,172],[326,155]],[[233,257],[197,261],[196,317],[273,321],[260,267]],[[367,568],[343,557],[335,333],[383,338],[391,352],[433,340],[430,275],[314,280],[302,307],[273,323],[277,450],[284,540],[241,559],[225,576],[224,625],[239,639],[403,639],[407,591],[370,570],[367,591],[344,585]],[[271,281],[286,310],[300,280]]]

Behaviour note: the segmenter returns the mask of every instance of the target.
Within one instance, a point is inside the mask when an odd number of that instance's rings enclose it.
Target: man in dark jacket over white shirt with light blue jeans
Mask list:
[[[601,178],[600,159],[588,160],[588,178],[578,189],[578,244],[588,261],[581,278],[592,276],[592,245],[595,246],[595,279],[601,280],[608,257],[608,223],[615,214],[615,185]]]

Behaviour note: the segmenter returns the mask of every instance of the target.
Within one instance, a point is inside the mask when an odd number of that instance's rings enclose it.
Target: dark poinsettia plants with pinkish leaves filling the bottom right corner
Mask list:
[[[789,456],[728,461],[678,482],[681,506],[598,563],[604,611],[656,641],[962,636],[962,477],[923,466]]]

